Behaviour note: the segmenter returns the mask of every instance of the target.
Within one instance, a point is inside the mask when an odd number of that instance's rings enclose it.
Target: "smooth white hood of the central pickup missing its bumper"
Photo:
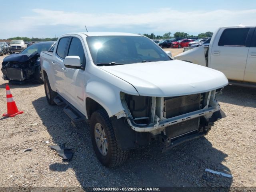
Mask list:
[[[228,84],[222,72],[179,60],[100,68],[132,84],[142,96],[182,96],[215,90]]]

